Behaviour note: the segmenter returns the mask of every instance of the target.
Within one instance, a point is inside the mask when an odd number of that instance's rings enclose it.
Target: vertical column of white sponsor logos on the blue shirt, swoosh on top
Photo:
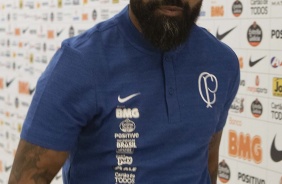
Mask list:
[[[124,104],[141,93],[131,94],[126,97],[118,96],[118,103]],[[127,108],[125,105],[118,105],[116,108],[116,119],[122,121],[119,124],[120,132],[114,134],[116,140],[117,165],[113,167],[115,183],[134,184],[137,167],[134,166],[134,151],[137,149],[136,139],[139,133],[136,131],[136,123],[131,119],[139,119],[138,108]]]

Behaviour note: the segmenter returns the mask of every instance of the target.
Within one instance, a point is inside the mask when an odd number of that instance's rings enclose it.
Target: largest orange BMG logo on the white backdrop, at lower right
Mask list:
[[[254,161],[259,164],[262,161],[261,137],[249,134],[229,131],[228,154],[231,157],[237,157],[248,161]]]

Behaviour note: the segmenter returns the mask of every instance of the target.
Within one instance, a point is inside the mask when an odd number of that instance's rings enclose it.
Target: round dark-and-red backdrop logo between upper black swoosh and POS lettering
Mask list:
[[[251,46],[256,47],[262,41],[262,29],[261,27],[254,22],[248,29],[247,39]]]

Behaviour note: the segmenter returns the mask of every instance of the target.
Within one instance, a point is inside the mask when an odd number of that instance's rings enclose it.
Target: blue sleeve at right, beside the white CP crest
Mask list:
[[[235,54],[234,54],[235,55]],[[239,68],[239,62],[237,59],[237,56],[235,55],[234,59],[233,59],[233,71],[231,71],[230,73],[233,75],[229,76],[229,81],[230,81],[230,85],[229,85],[229,90],[228,90],[228,95],[227,95],[227,100],[225,102],[225,105],[223,107],[223,110],[220,114],[220,118],[219,118],[219,122],[217,124],[216,127],[216,132],[221,131],[225,124],[226,124],[226,120],[227,120],[227,116],[228,116],[228,112],[230,109],[230,106],[237,94],[238,88],[239,88],[239,83],[240,83],[240,68]]]

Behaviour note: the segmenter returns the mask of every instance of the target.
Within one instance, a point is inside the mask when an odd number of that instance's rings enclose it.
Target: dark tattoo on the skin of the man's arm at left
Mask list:
[[[34,183],[47,184],[52,180],[52,174],[47,169],[40,168],[40,157],[48,152],[48,150],[30,143],[25,143],[23,147],[19,147],[20,154],[15,158],[12,169],[12,175],[15,181],[28,177]]]

